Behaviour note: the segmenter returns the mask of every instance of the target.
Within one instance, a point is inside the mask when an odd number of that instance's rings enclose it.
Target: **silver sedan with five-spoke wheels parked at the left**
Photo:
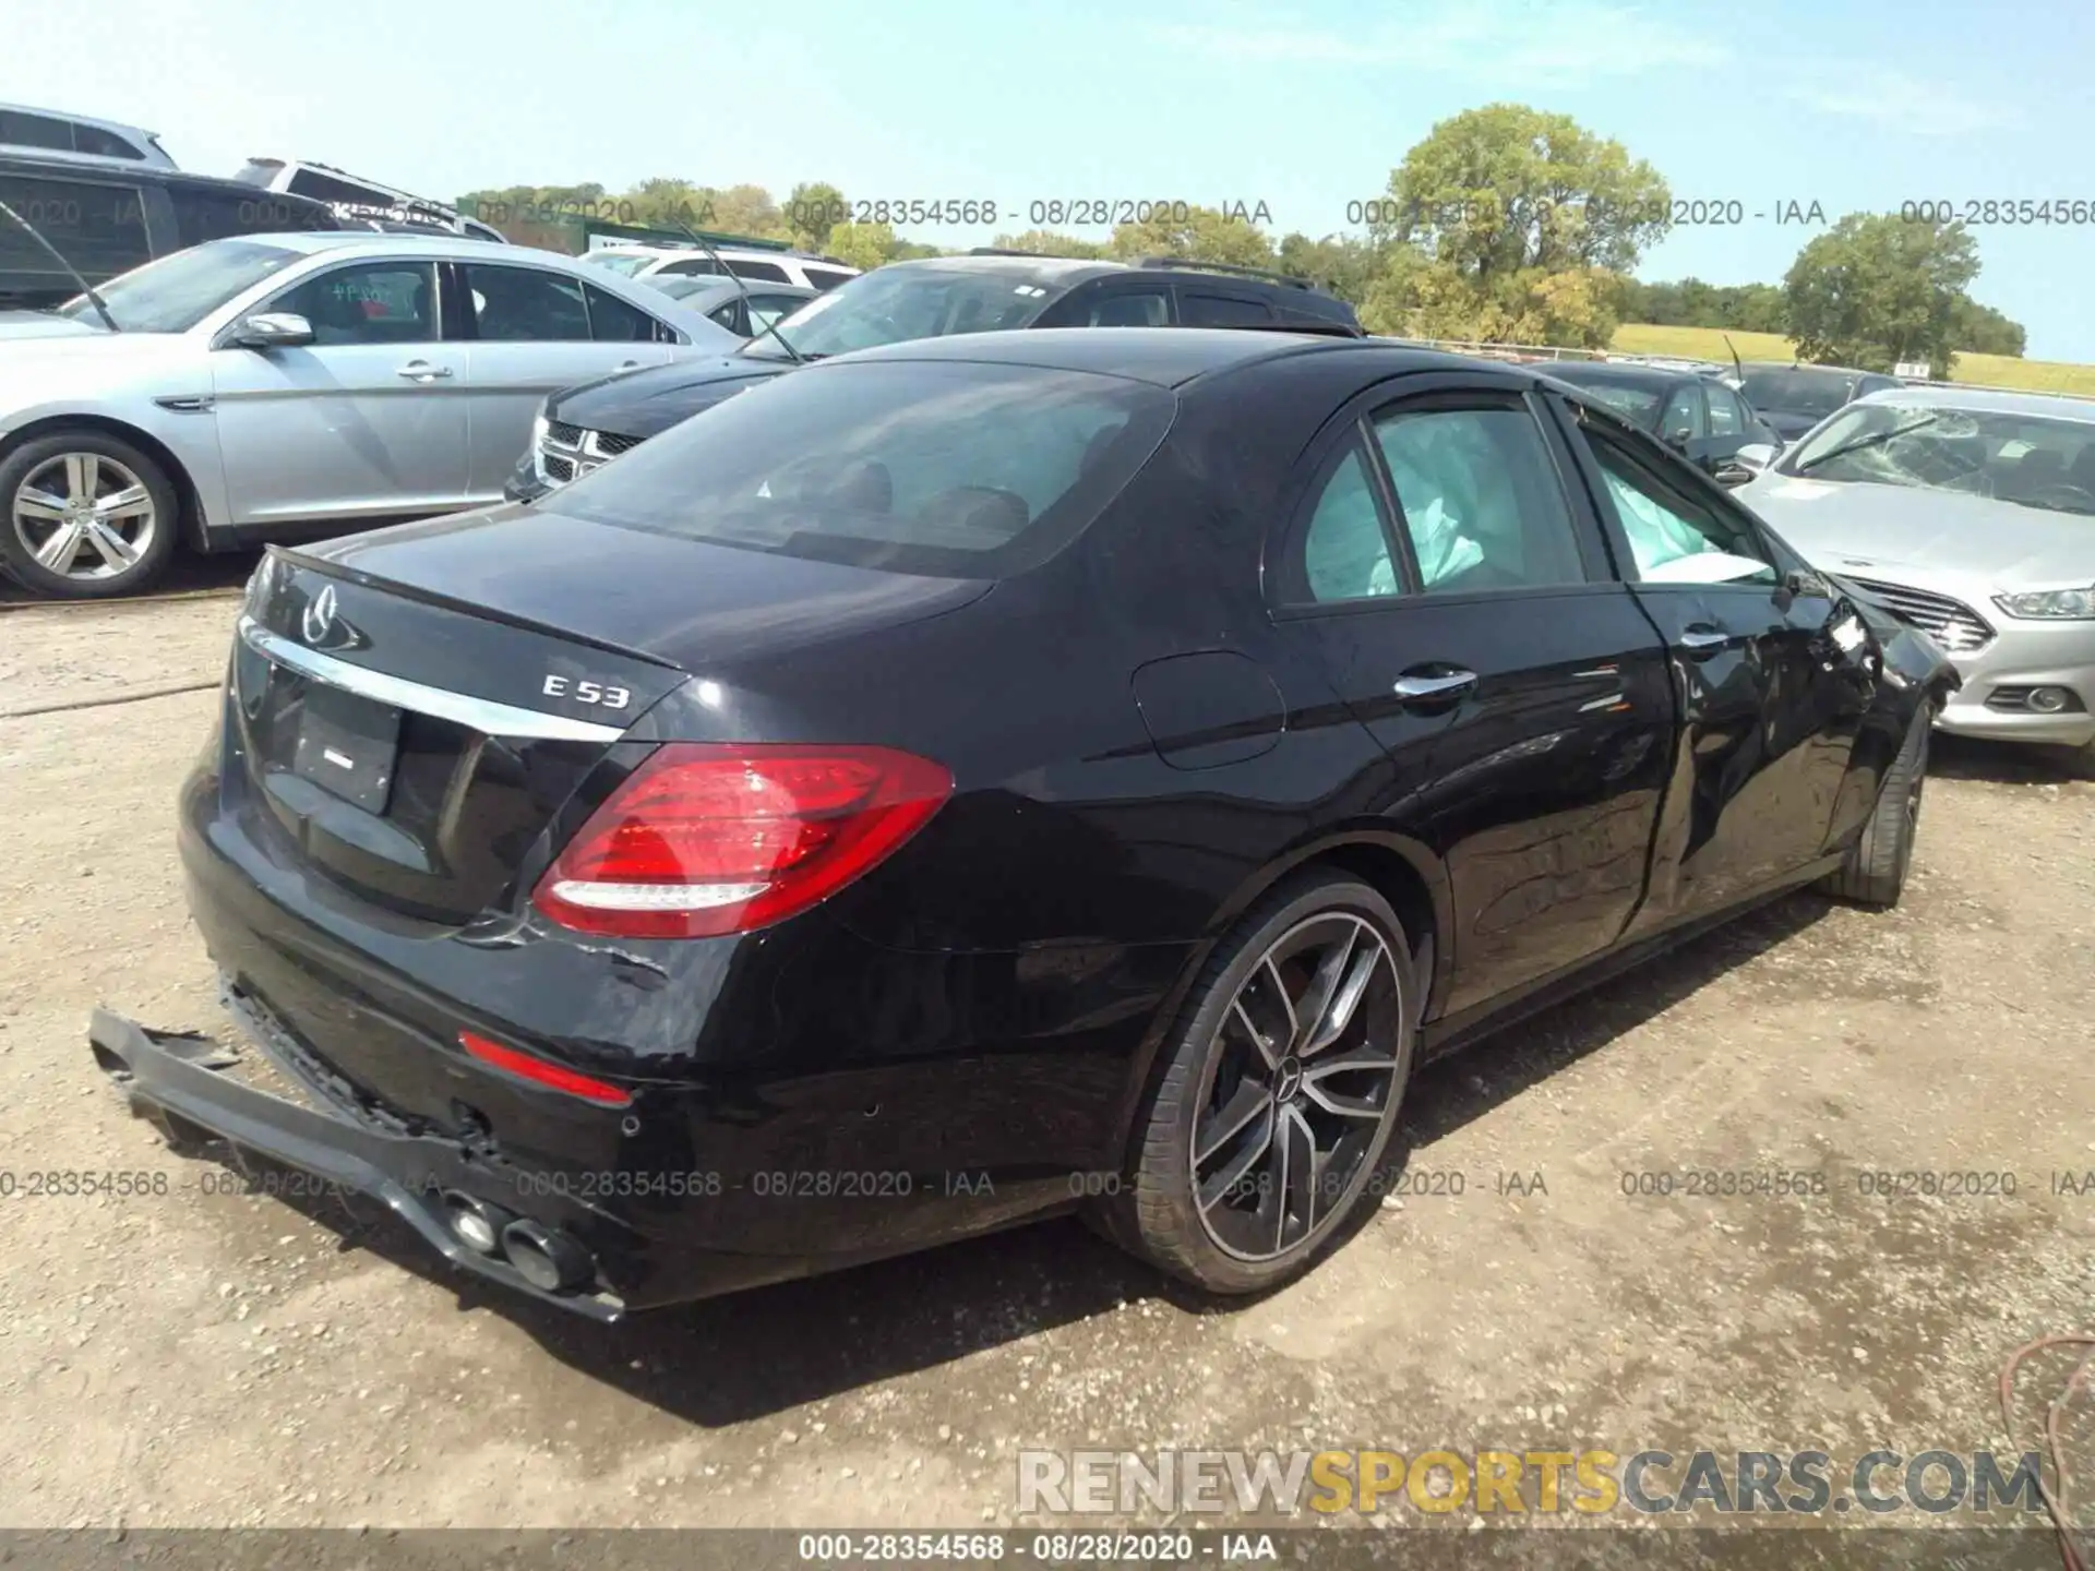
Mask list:
[[[0,335],[0,568],[134,593],[178,543],[501,501],[541,400],[742,339],[574,258],[448,235],[256,235]],[[40,327],[42,325],[42,331]]]

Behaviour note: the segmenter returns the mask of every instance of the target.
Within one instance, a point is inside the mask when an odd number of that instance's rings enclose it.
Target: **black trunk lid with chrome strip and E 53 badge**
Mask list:
[[[693,670],[985,591],[536,509],[270,551],[235,639],[241,806],[362,903],[467,924]]]

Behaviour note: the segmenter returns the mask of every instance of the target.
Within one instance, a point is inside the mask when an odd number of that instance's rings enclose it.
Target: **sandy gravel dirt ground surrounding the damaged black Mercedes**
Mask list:
[[[976,1527],[1020,1447],[1969,1452],[2007,1351],[2095,1318],[2055,1179],[2095,1169],[2095,785],[1955,746],[1902,909],[1787,899],[1435,1066],[1410,1169],[1462,1192],[1249,1307],[1048,1223],[603,1330],[207,1192],[86,1020],[222,1028],[170,844],[214,700],[21,712],[210,683],[230,616],[0,614],[0,1167],[168,1181],[0,1200],[0,1523]],[[1829,1190],[1624,1194],[1684,1169]]]

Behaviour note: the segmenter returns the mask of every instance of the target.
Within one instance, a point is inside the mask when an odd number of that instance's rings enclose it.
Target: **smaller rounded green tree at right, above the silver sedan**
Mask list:
[[[1789,335],[1806,360],[1865,371],[1925,360],[1942,379],[1976,276],[1978,245],[1963,224],[1848,214],[1798,251],[1783,279]]]

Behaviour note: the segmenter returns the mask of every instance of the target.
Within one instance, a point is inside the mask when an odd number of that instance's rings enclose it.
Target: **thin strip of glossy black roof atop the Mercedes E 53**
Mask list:
[[[890,264],[897,266],[897,264]],[[1091,371],[1182,388],[1196,377],[1295,354],[1376,354],[1391,375],[1404,371],[1477,371],[1475,360],[1435,350],[1404,350],[1328,333],[1267,327],[1024,327],[1001,333],[953,333],[840,354],[838,362],[962,360],[1041,371]],[[1494,367],[1500,369],[1500,367]],[[1502,367],[1519,381],[1523,367]]]

